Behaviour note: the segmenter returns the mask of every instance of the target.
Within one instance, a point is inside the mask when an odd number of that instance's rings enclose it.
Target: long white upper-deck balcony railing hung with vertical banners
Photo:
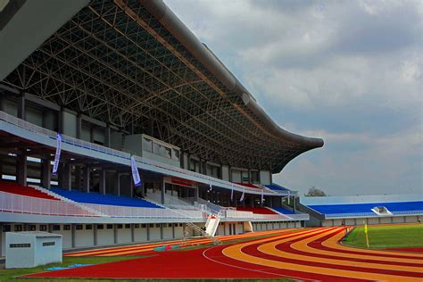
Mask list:
[[[18,118],[14,117],[14,116],[6,113],[6,112],[0,111],[0,120],[4,120],[7,123],[10,123],[14,126],[21,128],[21,129],[29,130],[30,132],[33,132],[33,133],[37,133],[37,134],[40,134],[40,135],[46,135],[46,136],[51,137],[53,139],[56,138],[56,132],[49,130],[49,129],[39,127],[39,126],[37,126],[33,123],[30,123],[26,120],[18,119]],[[95,152],[99,152],[99,153],[106,153],[106,154],[109,154],[109,155],[112,155],[112,156],[115,156],[115,157],[119,157],[121,159],[127,160],[128,166],[130,165],[130,163],[129,163],[130,154],[129,153],[125,153],[125,152],[122,152],[122,151],[119,151],[119,150],[115,150],[115,149],[112,149],[110,147],[106,147],[104,145],[96,145],[94,143],[87,142],[87,141],[84,141],[84,140],[80,140],[80,139],[74,138],[74,137],[69,137],[69,136],[66,136],[66,135],[62,135],[62,142],[65,143],[65,144],[75,145],[75,146],[78,146],[78,147],[81,147],[81,148],[85,148],[85,149],[88,149],[88,150],[91,150],[91,151],[95,151]],[[197,178],[197,179],[199,178],[199,179],[202,180],[203,184],[209,184],[211,182],[211,185],[214,185],[214,186],[224,187],[224,188],[228,188],[228,189],[233,187],[237,191],[241,191],[241,192],[245,191],[245,193],[251,193],[251,194],[256,194],[256,195],[261,194],[261,189],[255,189],[255,188],[252,188],[252,187],[245,187],[245,186],[238,185],[238,184],[235,184],[235,183],[231,183],[229,181],[222,180],[222,179],[219,179],[219,178],[212,178],[210,176],[203,175],[203,174],[198,173],[198,172],[194,172],[194,171],[191,171],[191,170],[184,170],[184,169],[181,169],[181,168],[178,168],[178,167],[175,167],[175,166],[171,166],[169,164],[165,164],[165,163],[162,163],[162,162],[156,162],[156,161],[153,161],[153,160],[150,160],[150,159],[145,159],[145,158],[139,157],[137,155],[135,155],[135,159],[138,163],[141,163],[145,166],[156,167],[156,168],[159,168],[159,169],[162,169],[162,170],[170,170],[170,171],[174,171],[174,172],[177,172],[177,173],[180,173],[180,174],[183,174],[183,175],[186,175],[186,176],[190,176],[190,177],[193,177],[193,178]],[[155,171],[155,170],[153,170],[153,171]],[[273,191],[265,191],[264,194],[265,195],[278,195],[278,193],[273,192]]]

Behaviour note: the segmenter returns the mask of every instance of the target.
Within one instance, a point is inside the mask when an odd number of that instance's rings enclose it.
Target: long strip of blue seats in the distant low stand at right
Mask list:
[[[375,207],[386,207],[388,211],[395,213],[395,211],[423,211],[423,202],[319,204],[308,207],[321,214],[373,212],[371,209]]]

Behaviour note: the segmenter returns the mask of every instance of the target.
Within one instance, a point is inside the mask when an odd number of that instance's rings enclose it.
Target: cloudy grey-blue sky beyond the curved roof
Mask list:
[[[274,182],[423,193],[423,1],[165,3],[283,129],[324,139]]]

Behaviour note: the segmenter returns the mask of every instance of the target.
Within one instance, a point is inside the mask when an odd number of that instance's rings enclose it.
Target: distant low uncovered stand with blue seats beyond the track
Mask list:
[[[421,222],[423,195],[302,197],[299,210],[310,214],[308,226]]]

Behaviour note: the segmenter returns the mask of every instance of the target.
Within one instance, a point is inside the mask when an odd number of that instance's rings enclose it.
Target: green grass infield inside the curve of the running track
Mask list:
[[[423,224],[368,226],[370,248],[423,247]],[[346,236],[344,245],[366,248],[363,227],[358,227]]]

